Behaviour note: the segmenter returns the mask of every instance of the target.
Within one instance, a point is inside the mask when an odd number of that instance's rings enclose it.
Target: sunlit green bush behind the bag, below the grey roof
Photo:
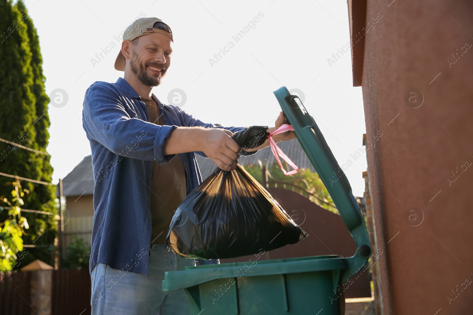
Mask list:
[[[245,170],[250,173],[254,179],[263,183],[262,166],[249,164],[245,166]],[[320,207],[338,214],[338,210],[335,207],[335,204],[333,204],[332,198],[317,173],[313,173],[308,169],[299,169],[296,174],[289,176],[284,175],[278,162],[269,165],[266,171],[268,174],[267,183],[269,187],[282,187],[296,191],[299,194],[306,196],[309,200]]]

